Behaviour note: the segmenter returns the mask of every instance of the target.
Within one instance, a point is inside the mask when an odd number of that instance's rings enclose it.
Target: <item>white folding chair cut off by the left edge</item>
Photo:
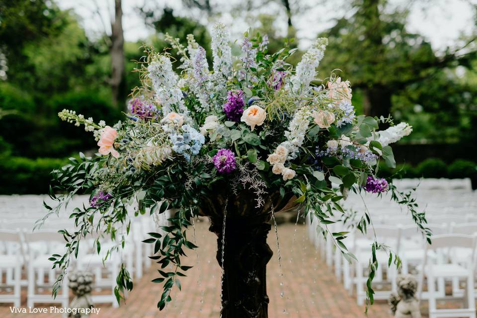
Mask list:
[[[0,303],[13,303],[13,306],[20,306],[21,293],[21,266],[23,265],[23,256],[21,253],[21,237],[18,231],[0,230],[0,244],[4,253],[0,254],[0,285],[3,269],[13,272],[13,277],[5,279],[6,284],[2,287],[13,286],[13,294],[1,294]]]

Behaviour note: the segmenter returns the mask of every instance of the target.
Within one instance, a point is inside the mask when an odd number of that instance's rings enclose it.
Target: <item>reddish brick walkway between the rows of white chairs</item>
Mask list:
[[[161,285],[150,281],[159,277],[151,268],[139,282],[135,282],[127,303],[114,309],[108,305],[101,308],[98,318],[206,318],[219,317],[221,269],[215,260],[216,237],[209,233],[208,222],[196,222],[198,254],[189,251],[189,263],[195,265],[181,279],[182,292],[174,288],[173,301],[159,312],[156,307]],[[356,300],[348,296],[338,283],[332,271],[318,258],[313,245],[302,225],[283,224],[278,227],[282,254],[283,276],[278,266],[277,244],[272,228],[268,243],[274,255],[267,267],[268,295],[270,297],[269,317],[290,318],[359,318],[364,316],[364,307],[356,305]],[[192,237],[192,231],[190,233]],[[227,255],[226,255],[227,257]],[[154,266],[154,265],[153,265]],[[280,286],[280,283],[283,286]],[[280,297],[283,292],[283,297]],[[10,314],[8,304],[0,304],[0,318],[50,318],[60,317],[48,314]],[[26,306],[26,293],[22,306]],[[371,307],[370,318],[390,318],[386,302]]]

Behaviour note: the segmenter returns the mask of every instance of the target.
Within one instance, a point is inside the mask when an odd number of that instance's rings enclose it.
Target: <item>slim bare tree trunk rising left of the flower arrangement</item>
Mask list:
[[[114,1],[114,21],[111,23],[111,93],[112,102],[116,107],[122,107],[126,91],[123,10],[121,0]]]

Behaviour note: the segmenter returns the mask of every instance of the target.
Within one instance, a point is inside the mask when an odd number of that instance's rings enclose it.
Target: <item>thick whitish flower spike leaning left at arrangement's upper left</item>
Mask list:
[[[163,55],[156,55],[149,64],[148,71],[163,115],[170,113],[173,106],[176,106],[180,113],[187,115],[189,111],[182,100],[182,91],[177,86],[179,77],[172,70],[170,60]]]

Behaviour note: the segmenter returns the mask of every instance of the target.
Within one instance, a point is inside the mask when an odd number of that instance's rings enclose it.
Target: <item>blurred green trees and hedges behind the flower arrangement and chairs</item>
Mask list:
[[[182,0],[198,12],[197,19],[159,4],[138,6],[144,24],[156,32],[143,41],[125,42],[118,23],[121,0],[114,2],[112,31],[91,38],[73,10],[62,10],[52,0],[0,0],[0,193],[46,193],[52,169],[79,151],[96,150],[90,134],[61,122],[57,113],[68,108],[96,121],[121,119],[127,92],[140,84],[132,71],[143,56],[142,46],[163,51],[165,33],[184,44],[192,33],[209,48],[208,26],[199,21],[221,14],[209,0]],[[285,13],[286,35],[276,29],[276,15],[255,13],[271,2]],[[273,53],[284,45],[299,47],[293,21],[306,5],[298,2],[244,1],[237,10],[252,21],[252,32],[269,36]],[[316,35],[330,42],[319,74],[324,79],[339,68],[338,74],[353,85],[358,112],[391,114],[413,125],[413,134],[394,147],[398,174],[471,177],[476,184],[476,25],[469,26],[473,32],[458,46],[442,52],[408,31],[408,6],[390,7],[384,0],[343,3],[347,13]],[[239,43],[234,46],[237,51]],[[302,54],[291,62],[298,63]],[[212,65],[210,50],[208,59]],[[380,171],[383,176],[396,173],[385,167]]]

